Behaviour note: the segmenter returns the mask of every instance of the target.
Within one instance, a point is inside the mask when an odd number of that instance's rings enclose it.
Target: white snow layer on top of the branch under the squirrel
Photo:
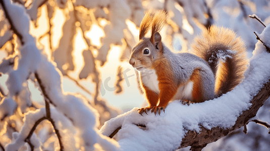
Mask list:
[[[265,42],[269,39],[269,27],[259,35]],[[180,146],[185,132],[199,132],[199,125],[207,129],[217,126],[232,127],[237,117],[251,106],[249,102],[252,96],[257,94],[269,78],[269,58],[270,53],[258,41],[245,72],[245,79],[231,92],[220,98],[189,106],[175,100],[160,115],[148,112],[148,115],[144,113],[141,116],[137,112],[138,108],[134,108],[105,122],[100,131],[109,136],[122,126],[118,132],[118,142],[123,150],[174,150]],[[135,124],[143,124],[147,130],[142,130]]]

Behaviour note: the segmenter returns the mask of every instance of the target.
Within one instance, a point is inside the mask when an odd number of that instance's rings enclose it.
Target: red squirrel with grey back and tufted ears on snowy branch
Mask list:
[[[211,26],[194,39],[189,52],[172,52],[161,42],[160,30],[167,14],[159,10],[145,14],[139,42],[132,48],[129,63],[140,73],[148,107],[165,112],[171,100],[200,103],[212,100],[237,86],[247,68],[246,47],[230,29]],[[151,30],[150,38],[145,37]],[[146,76],[147,75],[147,76]],[[158,103],[159,102],[159,103]]]

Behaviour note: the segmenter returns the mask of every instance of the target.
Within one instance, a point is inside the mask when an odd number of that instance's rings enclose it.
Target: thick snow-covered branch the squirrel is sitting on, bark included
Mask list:
[[[259,36],[267,41],[270,26]],[[201,150],[208,143],[246,125],[270,96],[270,53],[257,42],[245,79],[234,90],[203,103],[182,105],[170,103],[160,116],[143,114],[137,109],[107,121],[100,131],[113,136],[119,130],[122,149],[176,150],[191,146]],[[136,125],[145,125],[144,130]],[[154,143],[153,143],[154,142]]]

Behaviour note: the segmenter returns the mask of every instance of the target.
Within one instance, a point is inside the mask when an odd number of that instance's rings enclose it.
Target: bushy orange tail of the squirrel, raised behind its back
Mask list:
[[[215,75],[215,93],[218,96],[231,91],[241,82],[247,68],[246,47],[235,32],[211,26],[194,39],[191,47],[195,55],[210,65]]]

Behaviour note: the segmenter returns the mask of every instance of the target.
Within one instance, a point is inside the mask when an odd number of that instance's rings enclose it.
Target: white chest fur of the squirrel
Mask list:
[[[154,69],[144,69],[140,71],[141,81],[143,85],[148,87],[153,92],[159,94],[157,75]]]

